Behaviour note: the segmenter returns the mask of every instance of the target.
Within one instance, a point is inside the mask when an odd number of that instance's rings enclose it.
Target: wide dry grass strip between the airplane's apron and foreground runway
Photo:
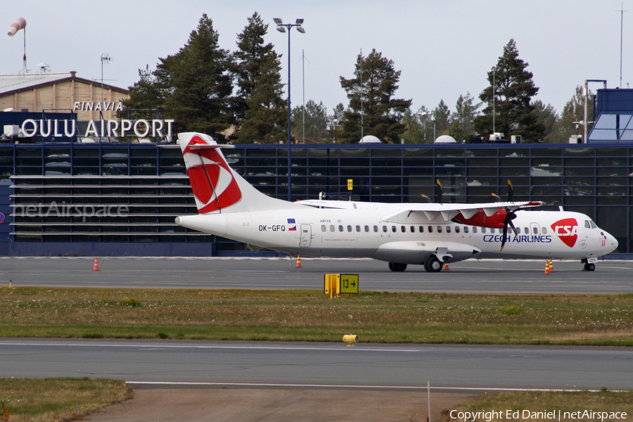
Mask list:
[[[0,288],[0,335],[633,345],[633,295]]]

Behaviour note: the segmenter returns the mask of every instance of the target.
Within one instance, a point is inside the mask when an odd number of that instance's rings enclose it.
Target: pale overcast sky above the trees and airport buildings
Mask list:
[[[0,24],[8,31],[16,18],[27,20],[32,71],[44,62],[53,72],[74,70],[100,81],[100,58],[108,53],[113,60],[103,65],[104,82],[127,88],[139,80],[139,68],[153,70],[158,58],[177,53],[203,13],[230,51],[248,17],[260,13],[270,24],[265,41],[283,54],[285,84],[288,34],[275,30],[273,18],[303,18],[305,34],[290,34],[291,101],[300,105],[305,87],[305,101],[322,101],[328,113],[338,103],[347,106],[339,78],[353,77],[361,50],[366,56],[376,49],[393,61],[402,72],[395,98],[412,100],[412,111],[433,109],[442,99],[454,110],[460,95],[478,98],[487,72],[514,39],[539,87],[535,99],[561,113],[585,79],[620,85],[622,8],[622,87],[633,88],[633,0],[27,0],[3,2]],[[22,70],[23,50],[22,31],[1,35],[0,73]]]

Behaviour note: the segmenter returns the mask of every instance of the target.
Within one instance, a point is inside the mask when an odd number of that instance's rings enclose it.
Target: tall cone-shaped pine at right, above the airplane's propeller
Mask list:
[[[490,87],[479,96],[487,104],[483,115],[475,118],[475,130],[482,136],[493,132],[494,78],[494,132],[501,132],[506,138],[521,135],[524,142],[537,142],[544,138],[544,125],[538,122],[531,103],[539,89],[535,87],[532,72],[528,72],[527,67],[528,63],[518,57],[516,44],[511,39],[504,47],[504,55],[488,72]]]

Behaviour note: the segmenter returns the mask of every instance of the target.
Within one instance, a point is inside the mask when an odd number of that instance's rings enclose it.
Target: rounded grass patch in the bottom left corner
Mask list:
[[[78,421],[134,397],[124,381],[89,378],[0,378],[0,420]]]

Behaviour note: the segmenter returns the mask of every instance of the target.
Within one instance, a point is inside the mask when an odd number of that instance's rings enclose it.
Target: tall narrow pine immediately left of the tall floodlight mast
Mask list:
[[[255,12],[238,34],[232,71],[238,87],[234,113],[241,129],[238,142],[276,143],[287,139],[288,117],[283,100],[281,63],[272,44],[264,45],[268,25]]]

